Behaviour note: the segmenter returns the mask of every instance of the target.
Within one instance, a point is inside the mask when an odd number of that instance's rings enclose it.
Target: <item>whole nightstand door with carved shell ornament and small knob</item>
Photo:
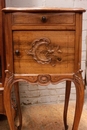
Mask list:
[[[74,71],[74,31],[13,31],[16,74]]]

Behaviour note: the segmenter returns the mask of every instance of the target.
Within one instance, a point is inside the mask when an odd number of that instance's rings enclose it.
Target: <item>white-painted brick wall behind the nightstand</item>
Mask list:
[[[6,6],[13,7],[81,7],[87,10],[87,0],[6,0]],[[83,78],[86,64],[87,44],[87,12],[83,14],[82,29],[82,65]],[[20,83],[20,97],[24,104],[53,103],[64,101],[65,83],[58,85],[39,86]],[[75,99],[75,89],[72,85],[71,100]]]

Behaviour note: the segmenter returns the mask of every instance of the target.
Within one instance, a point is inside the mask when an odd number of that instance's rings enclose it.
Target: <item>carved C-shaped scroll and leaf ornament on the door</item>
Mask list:
[[[59,45],[51,44],[48,38],[34,40],[30,50],[26,50],[27,55],[32,55],[33,59],[41,64],[51,64],[55,66],[62,62],[62,51]]]

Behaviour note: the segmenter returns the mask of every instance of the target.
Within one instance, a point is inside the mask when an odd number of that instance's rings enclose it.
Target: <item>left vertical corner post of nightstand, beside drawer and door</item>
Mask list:
[[[12,31],[11,31],[11,14],[9,15],[6,15],[6,17],[4,17],[7,22],[5,22],[5,47],[6,47],[6,66],[7,66],[7,69],[10,70],[10,71],[13,71],[13,52],[12,52]],[[9,34],[7,35],[7,32],[9,30]],[[10,54],[10,56],[9,56]]]

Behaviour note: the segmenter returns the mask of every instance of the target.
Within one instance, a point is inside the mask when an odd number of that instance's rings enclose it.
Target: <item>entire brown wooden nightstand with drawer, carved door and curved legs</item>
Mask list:
[[[78,130],[84,102],[80,69],[82,12],[85,10],[7,8],[3,11],[6,49],[4,105],[10,130],[17,130],[12,113],[11,89],[19,81],[40,85],[67,81],[64,106],[66,130],[70,84],[74,82],[77,99],[72,130]],[[19,119],[21,124],[21,114]]]

